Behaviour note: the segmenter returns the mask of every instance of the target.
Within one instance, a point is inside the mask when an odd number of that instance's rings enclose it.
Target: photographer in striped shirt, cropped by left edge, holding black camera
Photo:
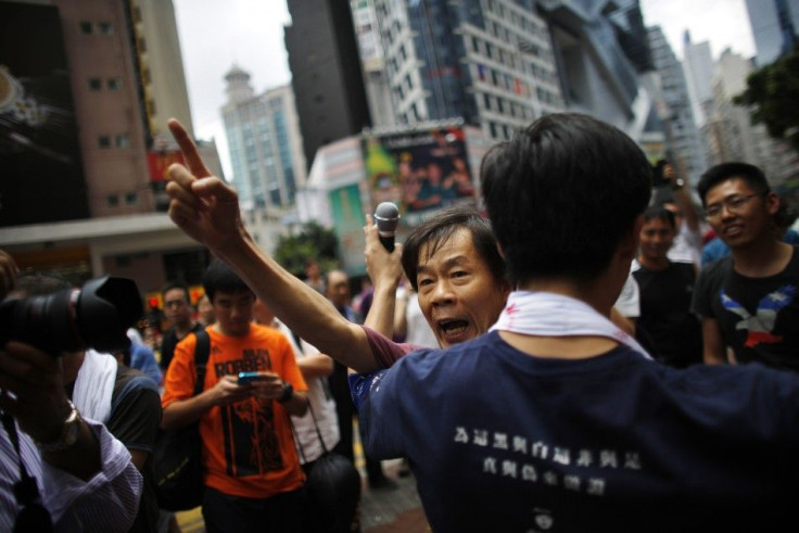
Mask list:
[[[15,274],[0,251],[0,299]],[[72,405],[61,358],[9,341],[0,390],[0,531],[127,531],[142,477],[125,446]]]

